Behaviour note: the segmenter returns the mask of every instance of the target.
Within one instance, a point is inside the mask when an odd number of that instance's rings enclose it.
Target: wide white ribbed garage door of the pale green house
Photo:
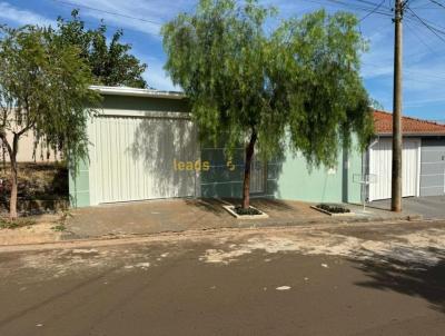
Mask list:
[[[101,116],[89,128],[91,204],[195,196],[196,131],[185,118]]]

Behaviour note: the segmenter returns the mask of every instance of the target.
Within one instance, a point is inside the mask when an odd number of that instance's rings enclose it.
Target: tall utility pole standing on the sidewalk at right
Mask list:
[[[402,211],[402,60],[403,60],[403,11],[406,1],[395,0],[394,43],[394,105],[393,105],[393,174],[392,211]]]

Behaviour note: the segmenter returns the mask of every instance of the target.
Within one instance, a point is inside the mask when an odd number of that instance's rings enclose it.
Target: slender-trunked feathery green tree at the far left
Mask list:
[[[91,81],[79,49],[66,46],[51,29],[1,28],[0,139],[10,158],[11,219],[17,218],[17,154],[26,132],[61,150],[71,169],[87,157],[87,120],[99,100],[89,89]]]

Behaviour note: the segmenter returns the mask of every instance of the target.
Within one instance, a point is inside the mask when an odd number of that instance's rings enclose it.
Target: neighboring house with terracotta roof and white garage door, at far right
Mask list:
[[[368,200],[390,198],[393,115],[374,112],[376,139],[369,146],[365,162],[375,176]],[[445,194],[445,125],[404,117],[403,121],[404,197]],[[373,180],[373,179],[372,179]]]

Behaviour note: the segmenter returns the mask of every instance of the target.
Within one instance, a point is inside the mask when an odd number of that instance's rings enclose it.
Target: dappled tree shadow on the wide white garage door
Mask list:
[[[189,119],[144,118],[126,149],[136,167],[135,174],[142,179],[132,186],[140,190],[138,198],[195,196],[195,167],[182,167],[180,162],[196,162],[196,131]]]

